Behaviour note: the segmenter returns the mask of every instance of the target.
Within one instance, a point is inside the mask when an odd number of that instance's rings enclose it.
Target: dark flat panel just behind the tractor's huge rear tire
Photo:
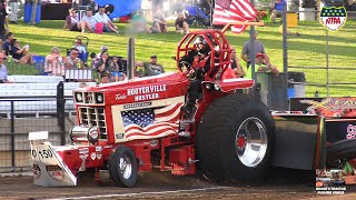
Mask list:
[[[276,142],[273,166],[313,170],[319,152],[319,117],[304,114],[273,116],[276,122]]]

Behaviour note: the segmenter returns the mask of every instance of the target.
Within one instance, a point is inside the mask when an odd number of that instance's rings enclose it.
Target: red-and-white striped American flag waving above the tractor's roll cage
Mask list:
[[[258,11],[249,0],[216,0],[212,23],[226,24],[229,21],[253,21],[257,16]],[[246,28],[246,24],[236,24],[231,27],[231,31],[240,33]]]

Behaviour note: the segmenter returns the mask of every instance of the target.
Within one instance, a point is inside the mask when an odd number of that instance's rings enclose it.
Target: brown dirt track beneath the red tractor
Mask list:
[[[289,174],[286,177],[286,174]],[[291,176],[290,176],[291,174]],[[107,174],[101,174],[107,179]],[[0,178],[0,199],[329,199],[315,193],[313,176],[300,171],[283,172],[263,182],[217,184],[198,177],[171,177],[154,172],[141,174],[135,188],[117,188],[110,181],[81,179],[77,187],[42,188],[31,177]],[[356,199],[347,188],[343,199]],[[352,194],[354,193],[354,194]],[[80,197],[80,198],[79,198]],[[340,197],[333,197],[340,198]]]

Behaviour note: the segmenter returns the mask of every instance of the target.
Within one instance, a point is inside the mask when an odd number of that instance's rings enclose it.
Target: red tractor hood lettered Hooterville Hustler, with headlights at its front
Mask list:
[[[98,84],[75,90],[76,104],[110,106],[185,96],[189,80],[181,72]]]

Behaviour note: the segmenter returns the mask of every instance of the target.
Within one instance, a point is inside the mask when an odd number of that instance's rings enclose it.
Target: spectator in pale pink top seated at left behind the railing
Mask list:
[[[63,58],[60,56],[60,50],[53,47],[51,53],[46,57],[44,72],[52,76],[65,76]]]

